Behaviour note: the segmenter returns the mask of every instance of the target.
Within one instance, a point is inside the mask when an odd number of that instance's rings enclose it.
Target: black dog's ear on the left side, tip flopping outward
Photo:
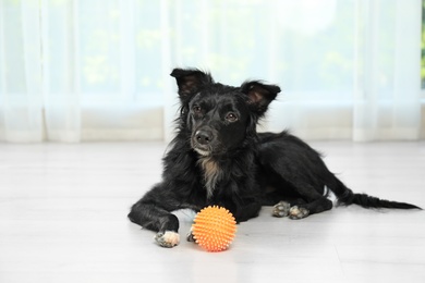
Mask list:
[[[214,83],[209,73],[197,69],[174,69],[170,75],[175,77],[181,99],[189,98],[203,86]]]

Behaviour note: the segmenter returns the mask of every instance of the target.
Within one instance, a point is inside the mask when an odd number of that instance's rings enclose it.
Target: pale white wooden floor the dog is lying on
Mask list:
[[[314,143],[354,190],[425,208],[425,143]],[[126,220],[162,144],[0,145],[0,282],[425,282],[425,212],[270,208],[227,251],[166,249]],[[183,211],[182,238],[193,214]]]

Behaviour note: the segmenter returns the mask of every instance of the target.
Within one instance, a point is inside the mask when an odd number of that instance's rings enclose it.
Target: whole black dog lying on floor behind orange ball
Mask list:
[[[240,87],[215,83],[199,70],[172,71],[181,100],[178,133],[163,158],[162,181],[133,205],[129,218],[158,232],[160,246],[179,244],[179,209],[229,209],[238,222],[276,205],[274,216],[302,219],[338,204],[365,208],[418,208],[354,194],[319,153],[288,132],[257,134],[256,124],[280,93],[258,81]],[[189,237],[190,238],[190,237]]]

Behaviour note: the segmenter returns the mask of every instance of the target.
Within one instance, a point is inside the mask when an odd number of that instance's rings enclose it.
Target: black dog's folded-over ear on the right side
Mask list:
[[[280,93],[280,87],[266,85],[259,81],[251,81],[242,84],[241,91],[247,96],[250,107],[258,115],[263,115],[267,111],[268,104]]]

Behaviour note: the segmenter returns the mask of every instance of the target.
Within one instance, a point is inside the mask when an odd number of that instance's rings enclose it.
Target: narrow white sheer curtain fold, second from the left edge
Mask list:
[[[82,128],[78,2],[51,2],[42,0],[40,9],[45,138],[76,143]]]

